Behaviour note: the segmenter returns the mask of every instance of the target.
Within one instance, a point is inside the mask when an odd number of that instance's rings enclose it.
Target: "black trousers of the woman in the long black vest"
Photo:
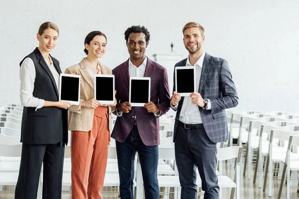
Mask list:
[[[14,198],[36,199],[43,163],[42,199],[61,199],[63,159],[64,146],[60,143],[23,143]]]

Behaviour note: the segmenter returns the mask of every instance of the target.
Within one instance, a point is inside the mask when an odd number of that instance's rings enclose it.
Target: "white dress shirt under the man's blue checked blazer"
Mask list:
[[[200,82],[200,76],[201,76],[201,69],[203,65],[203,58],[205,56],[205,51],[203,51],[200,58],[196,61],[194,64],[195,67],[195,79],[196,79],[196,91],[199,90],[199,82]],[[186,66],[192,66],[189,61],[189,56],[187,58]],[[207,109],[211,109],[211,103],[210,100],[208,100],[208,107]],[[176,106],[172,106],[170,102],[171,107],[177,108],[178,104]],[[184,101],[182,104],[182,109],[179,115],[179,120],[186,124],[199,124],[202,123],[200,112],[198,109],[198,105],[192,103],[191,97],[184,97]]]

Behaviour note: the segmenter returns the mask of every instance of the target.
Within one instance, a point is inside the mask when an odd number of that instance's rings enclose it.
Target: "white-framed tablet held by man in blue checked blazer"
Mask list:
[[[175,91],[181,96],[190,96],[195,90],[195,68],[193,66],[175,67]]]

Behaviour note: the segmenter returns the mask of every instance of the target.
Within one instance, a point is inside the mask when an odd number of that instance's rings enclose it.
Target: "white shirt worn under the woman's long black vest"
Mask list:
[[[49,56],[50,57],[50,56]],[[51,64],[48,63],[46,58],[43,56],[45,62],[47,63],[57,86],[57,89],[59,88],[59,74],[56,71],[53,61],[50,57]],[[34,90],[34,81],[36,77],[35,67],[33,60],[29,57],[24,59],[24,61],[21,64],[20,67],[20,100],[21,104],[26,107],[36,107],[35,110],[38,108],[43,107],[45,100],[38,99],[33,96],[33,90]]]

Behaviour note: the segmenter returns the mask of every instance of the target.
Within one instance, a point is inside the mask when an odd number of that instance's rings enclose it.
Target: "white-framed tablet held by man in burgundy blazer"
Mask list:
[[[131,77],[129,103],[144,106],[150,100],[150,78]]]

